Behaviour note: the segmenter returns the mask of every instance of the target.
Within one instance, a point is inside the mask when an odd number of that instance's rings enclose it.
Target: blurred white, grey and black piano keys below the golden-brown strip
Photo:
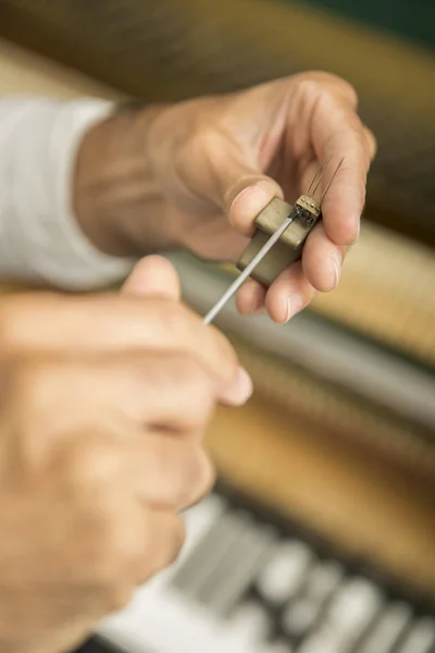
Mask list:
[[[179,559],[84,653],[435,653],[431,600],[238,493],[219,489],[186,527]]]

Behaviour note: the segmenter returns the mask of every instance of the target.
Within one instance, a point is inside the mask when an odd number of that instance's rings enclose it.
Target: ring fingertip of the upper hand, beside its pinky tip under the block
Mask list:
[[[314,295],[315,289],[304,276],[301,263],[294,263],[269,288],[268,313],[274,322],[282,324],[308,306]]]

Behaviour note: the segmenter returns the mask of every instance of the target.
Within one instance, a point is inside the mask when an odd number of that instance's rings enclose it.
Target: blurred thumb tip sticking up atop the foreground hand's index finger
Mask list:
[[[134,268],[122,292],[141,297],[159,296],[179,300],[182,288],[174,266],[162,256],[147,256]]]

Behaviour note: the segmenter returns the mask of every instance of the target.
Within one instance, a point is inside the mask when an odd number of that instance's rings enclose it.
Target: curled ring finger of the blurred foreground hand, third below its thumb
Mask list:
[[[184,510],[200,501],[215,472],[197,432],[181,438],[170,432],[127,433],[123,439],[95,432],[70,447],[69,478],[97,492],[119,483],[153,508]]]

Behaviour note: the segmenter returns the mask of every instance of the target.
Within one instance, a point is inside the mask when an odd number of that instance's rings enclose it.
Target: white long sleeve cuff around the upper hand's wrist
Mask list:
[[[0,281],[80,291],[128,274],[133,261],[98,251],[72,209],[77,149],[111,110],[94,99],[0,98]]]

